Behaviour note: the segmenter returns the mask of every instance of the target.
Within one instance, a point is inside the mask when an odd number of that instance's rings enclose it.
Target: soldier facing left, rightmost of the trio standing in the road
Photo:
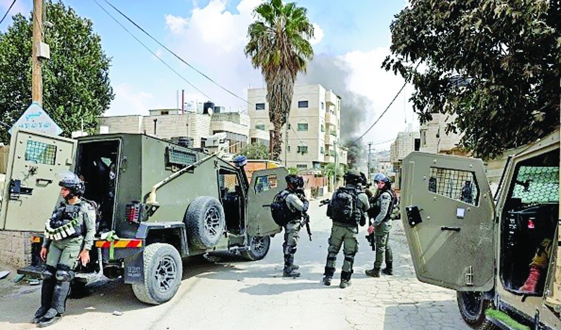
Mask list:
[[[381,270],[385,275],[393,275],[393,254],[392,248],[389,246],[389,231],[392,229],[392,209],[393,194],[392,185],[389,178],[384,173],[378,173],[374,176],[374,182],[378,190],[370,199],[371,209],[369,216],[372,219],[371,225],[368,227],[368,233],[374,233],[376,244],[376,261],[374,268],[366,270],[366,275],[372,277],[380,277],[380,268],[385,256],[386,267]]]

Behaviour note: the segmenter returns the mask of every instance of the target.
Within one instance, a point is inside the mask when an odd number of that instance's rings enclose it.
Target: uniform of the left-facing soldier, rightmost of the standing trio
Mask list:
[[[392,229],[391,215],[393,196],[387,190],[378,191],[376,196],[371,199],[372,209],[370,214],[373,215],[372,225],[374,226],[374,239],[376,245],[376,260],[374,261],[374,269],[367,270],[366,275],[378,277],[380,276],[380,268],[384,262],[386,268],[382,272],[387,275],[393,275],[393,253],[389,245],[389,232]]]

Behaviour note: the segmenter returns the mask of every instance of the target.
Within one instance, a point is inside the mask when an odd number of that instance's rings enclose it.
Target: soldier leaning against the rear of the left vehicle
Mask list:
[[[41,307],[34,320],[39,327],[57,322],[65,312],[70,281],[74,277],[77,261],[82,265],[90,261],[89,250],[95,235],[95,210],[85,201],[84,182],[72,172],[59,175],[63,201],[53,211],[45,224],[45,237],[40,257],[47,261],[41,274]]]

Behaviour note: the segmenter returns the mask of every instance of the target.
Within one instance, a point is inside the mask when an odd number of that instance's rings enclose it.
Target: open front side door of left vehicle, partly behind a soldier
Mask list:
[[[286,188],[284,177],[288,170],[284,167],[261,169],[251,176],[247,192],[247,233],[263,237],[280,232],[281,228],[273,220],[269,205],[275,195]]]

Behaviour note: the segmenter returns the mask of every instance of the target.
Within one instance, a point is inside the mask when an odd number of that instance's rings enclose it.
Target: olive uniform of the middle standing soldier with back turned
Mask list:
[[[337,260],[337,254],[343,246],[343,267],[341,272],[341,288],[350,285],[351,274],[353,273],[353,263],[355,262],[355,255],[358,252],[358,224],[361,218],[366,216],[366,211],[370,208],[368,197],[364,192],[361,191],[360,186],[354,183],[347,183],[345,188],[354,189],[357,192],[356,196],[356,206],[353,210],[353,219],[337,219],[333,217],[331,207],[335,199],[335,194],[332,196],[330,205],[328,205],[328,216],[332,218],[333,225],[331,228],[331,235],[328,239],[329,247],[327,248],[327,261],[325,262],[325,271],[323,277],[323,283],[325,285],[331,285],[331,280],[335,273],[335,261]]]

